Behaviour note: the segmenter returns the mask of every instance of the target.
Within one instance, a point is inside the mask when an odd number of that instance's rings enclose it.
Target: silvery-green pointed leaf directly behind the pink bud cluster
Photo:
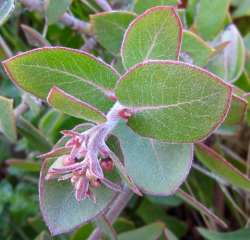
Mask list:
[[[59,182],[57,179],[44,179],[54,161],[52,158],[44,162],[40,175],[39,198],[45,222],[51,234],[57,235],[71,231],[103,214],[116,198],[117,192],[102,184],[99,189],[92,189],[98,205],[88,197],[83,201],[77,201],[70,179]],[[121,184],[121,178],[116,170],[106,172],[105,178],[117,185]]]

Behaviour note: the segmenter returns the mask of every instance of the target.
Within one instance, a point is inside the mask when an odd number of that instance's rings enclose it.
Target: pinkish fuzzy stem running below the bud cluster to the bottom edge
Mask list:
[[[133,191],[128,186],[125,186],[124,193],[120,193],[115,203],[113,204],[113,206],[110,208],[110,210],[106,215],[108,221],[111,224],[113,224],[116,218],[120,215],[123,208],[127,205],[128,201],[133,196],[133,194],[134,194]],[[102,236],[102,229],[100,226],[97,226],[97,228],[89,236],[88,240],[100,240],[101,236]]]

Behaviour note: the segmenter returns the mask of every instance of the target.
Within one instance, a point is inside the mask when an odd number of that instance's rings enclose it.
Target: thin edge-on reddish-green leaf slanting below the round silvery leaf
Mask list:
[[[199,212],[203,213],[204,215],[206,215],[210,219],[219,223],[222,227],[224,227],[224,228],[227,227],[227,225],[221,219],[219,219],[215,214],[213,214],[206,207],[204,207],[201,203],[196,201],[194,198],[189,196],[187,193],[185,193],[181,189],[178,189],[175,192],[175,195],[178,196],[179,198],[181,198],[183,201],[185,201],[188,205],[192,206],[193,208],[195,208]]]

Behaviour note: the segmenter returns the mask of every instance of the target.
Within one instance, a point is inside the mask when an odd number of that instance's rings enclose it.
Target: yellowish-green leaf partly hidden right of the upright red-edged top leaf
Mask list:
[[[192,58],[191,64],[204,67],[213,51],[214,49],[209,47],[201,38],[189,31],[183,30],[181,53],[187,53]]]

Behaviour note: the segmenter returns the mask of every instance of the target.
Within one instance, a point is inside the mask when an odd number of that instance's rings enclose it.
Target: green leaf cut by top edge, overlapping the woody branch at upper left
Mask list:
[[[51,25],[67,11],[73,0],[45,0],[44,9],[47,16],[47,23]]]

